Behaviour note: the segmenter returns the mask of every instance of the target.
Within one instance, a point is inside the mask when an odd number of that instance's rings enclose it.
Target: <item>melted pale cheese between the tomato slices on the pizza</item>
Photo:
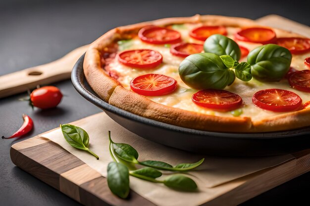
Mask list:
[[[181,33],[183,41],[203,43],[202,41],[197,41],[190,38],[188,35],[191,29],[199,26],[201,26],[201,24],[185,24],[184,27],[180,27],[176,30],[178,30]],[[233,35],[238,30],[239,28],[228,27],[227,36],[233,39]],[[251,43],[243,41],[238,41],[238,44],[248,48],[250,51],[261,45],[259,43]],[[159,51],[163,56],[163,63],[155,69],[134,69],[120,64],[115,59],[113,62],[111,62],[110,66],[111,68],[113,68],[113,70],[115,70],[118,74],[120,74],[120,77],[117,79],[117,81],[119,81],[124,88],[130,90],[129,86],[130,81],[133,78],[138,77],[140,75],[149,73],[163,74],[174,78],[178,82],[178,87],[171,94],[155,97],[148,96],[147,98],[157,103],[167,105],[170,107],[180,108],[183,110],[194,111],[207,115],[232,117],[232,114],[230,112],[213,111],[204,107],[200,107],[192,102],[192,95],[196,93],[198,90],[192,89],[189,86],[187,86],[184,82],[182,82],[178,73],[179,64],[184,58],[173,56],[170,53],[170,49],[163,45],[147,44],[140,41],[138,38],[134,39],[130,43],[130,47],[128,47],[127,49],[139,49],[139,48],[149,48]],[[293,55],[291,66],[297,70],[308,69],[307,66],[304,64],[304,59],[309,56],[310,53],[302,55]],[[241,61],[246,61],[246,58],[240,59],[240,62]],[[257,92],[258,90],[268,88],[281,88],[290,90],[298,94],[302,98],[304,103],[310,101],[309,93],[298,91],[296,89],[291,88],[286,79],[283,79],[280,82],[271,83],[271,82],[259,82],[258,80],[255,79],[252,79],[249,82],[242,82],[241,80],[236,78],[234,83],[232,83],[230,86],[225,87],[224,89],[240,95],[241,98],[243,99],[244,105],[242,107],[243,113],[241,114],[241,117],[251,117],[253,121],[257,121],[259,119],[281,114],[260,109],[252,103],[252,96],[254,95],[255,92]]]

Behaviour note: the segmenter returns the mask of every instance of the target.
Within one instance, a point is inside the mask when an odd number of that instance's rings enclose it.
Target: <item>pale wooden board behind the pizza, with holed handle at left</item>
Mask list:
[[[295,31],[310,37],[310,28],[277,15],[268,15],[256,20],[258,24],[274,28]],[[39,84],[51,84],[70,79],[71,70],[89,45],[74,49],[64,57],[48,64],[24,69],[8,75],[0,76],[0,98],[33,89]]]

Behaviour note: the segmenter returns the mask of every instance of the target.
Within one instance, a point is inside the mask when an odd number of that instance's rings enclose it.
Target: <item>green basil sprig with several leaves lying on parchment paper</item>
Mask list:
[[[107,172],[108,177],[107,178],[108,178],[108,181],[110,181],[111,183],[111,184],[108,184],[108,186],[110,190],[118,197],[126,198],[128,195],[127,189],[129,187],[129,181],[127,181],[127,178],[125,178],[127,177],[127,175],[131,175],[131,176],[134,176],[134,177],[146,180],[146,181],[150,181],[150,182],[162,183],[166,185],[167,187],[170,187],[176,190],[192,192],[197,189],[197,184],[193,179],[185,175],[181,175],[181,174],[173,174],[173,175],[167,176],[163,180],[158,180],[156,178],[160,177],[162,173],[157,169],[170,170],[170,171],[188,171],[190,169],[193,169],[201,165],[204,162],[204,159],[200,160],[197,163],[179,164],[176,166],[172,166],[167,163],[160,162],[160,161],[139,162],[138,161],[139,155],[138,155],[137,150],[135,150],[132,146],[128,144],[113,142],[111,139],[110,131],[108,132],[108,137],[109,137],[109,152],[114,162],[124,161],[127,164],[128,163],[139,164],[139,165],[146,166],[146,167],[135,169],[132,171],[125,170],[123,167],[126,167],[126,166],[121,163],[116,163],[120,165],[113,164],[111,166],[108,166],[108,172]],[[120,183],[122,180],[119,180],[119,179],[121,178],[124,179],[123,183]]]

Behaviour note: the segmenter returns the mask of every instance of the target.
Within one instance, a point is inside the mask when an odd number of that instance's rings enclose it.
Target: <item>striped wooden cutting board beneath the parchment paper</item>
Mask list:
[[[71,124],[83,127],[91,122],[100,127],[102,115],[99,113]],[[222,195],[209,197],[210,200],[202,205],[235,206],[310,170],[310,149],[292,155],[294,159],[281,165],[211,188]],[[155,206],[133,191],[128,200],[117,198],[100,173],[41,135],[12,145],[10,156],[15,165],[85,206]]]

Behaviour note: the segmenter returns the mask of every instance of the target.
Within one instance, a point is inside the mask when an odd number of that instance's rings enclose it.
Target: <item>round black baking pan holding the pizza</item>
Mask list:
[[[71,80],[88,101],[103,109],[116,123],[159,144],[208,155],[266,156],[310,148],[310,127],[264,133],[222,133],[184,128],[147,119],[104,102],[88,85],[83,73],[84,55],[74,65]]]

